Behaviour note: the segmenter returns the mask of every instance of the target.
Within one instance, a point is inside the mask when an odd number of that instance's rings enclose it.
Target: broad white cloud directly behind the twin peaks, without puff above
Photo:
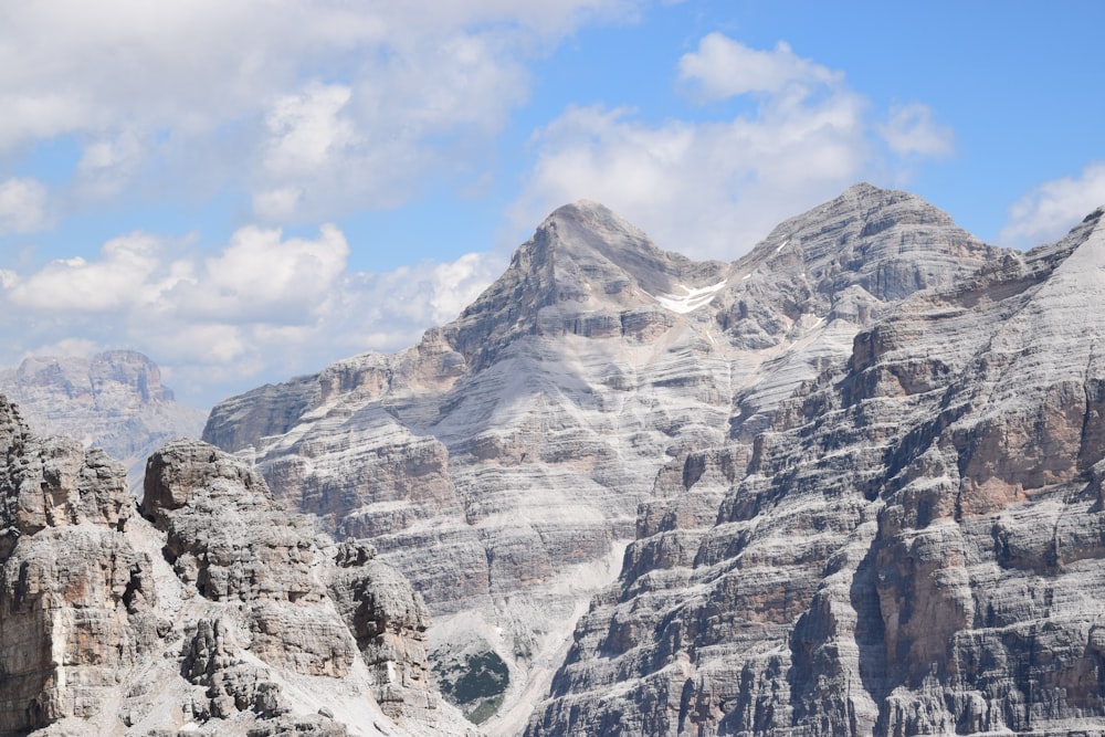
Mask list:
[[[576,199],[606,203],[661,248],[736,259],[782,219],[861,177],[863,101],[841,93],[755,118],[649,126],[628,110],[575,108],[540,131],[515,223]]]

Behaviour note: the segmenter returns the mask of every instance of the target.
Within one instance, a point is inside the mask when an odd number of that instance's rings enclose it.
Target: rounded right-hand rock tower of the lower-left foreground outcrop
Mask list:
[[[371,546],[329,549],[327,539],[316,539],[314,522],[285,512],[260,474],[206,443],[170,443],[148,465],[143,512],[167,534],[167,562],[204,599],[232,604],[251,653],[333,678],[350,675],[360,655],[388,716],[435,724],[425,607],[410,583],[375,560]],[[201,622],[196,636],[203,652],[220,628],[233,631],[223,621]],[[210,680],[211,657],[193,660]],[[248,691],[235,699],[256,697]]]

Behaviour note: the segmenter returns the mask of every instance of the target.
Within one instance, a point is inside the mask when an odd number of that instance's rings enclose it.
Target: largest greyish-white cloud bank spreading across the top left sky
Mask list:
[[[0,152],[81,141],[69,204],[230,179],[263,222],[394,207],[427,171],[478,177],[533,57],[636,2],[14,3]]]

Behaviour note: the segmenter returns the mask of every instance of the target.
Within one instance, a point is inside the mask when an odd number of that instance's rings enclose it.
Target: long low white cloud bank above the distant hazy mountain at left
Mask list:
[[[467,254],[371,274],[351,272],[348,256],[333,225],[312,239],[246,227],[213,254],[131,233],[95,259],[3,270],[0,364],[131,346],[155,357],[182,397],[210,403],[361,350],[413,345],[504,267]]]

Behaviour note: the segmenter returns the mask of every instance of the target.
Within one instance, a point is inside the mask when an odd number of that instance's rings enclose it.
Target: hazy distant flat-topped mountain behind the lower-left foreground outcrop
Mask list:
[[[134,350],[27,358],[0,370],[0,392],[36,433],[76,438],[123,461],[136,491],[146,457],[170,440],[198,438],[207,417],[178,404],[157,365]]]

